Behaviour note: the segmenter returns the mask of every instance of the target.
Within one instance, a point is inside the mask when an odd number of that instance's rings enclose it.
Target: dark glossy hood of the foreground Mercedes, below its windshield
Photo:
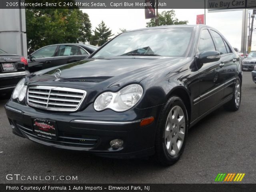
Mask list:
[[[123,84],[146,80],[148,76],[166,68],[170,71],[170,68],[175,68],[188,59],[158,56],[86,59],[31,74],[28,76],[28,84],[80,89],[94,87],[95,90],[118,89]],[[54,76],[56,69],[61,71],[59,78]]]

